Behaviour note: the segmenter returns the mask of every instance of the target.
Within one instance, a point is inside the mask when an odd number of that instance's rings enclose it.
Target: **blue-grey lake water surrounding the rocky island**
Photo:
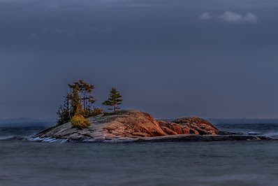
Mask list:
[[[217,127],[272,136],[278,131],[278,124]],[[41,130],[0,128],[0,185],[278,185],[278,141],[39,143],[25,139]]]

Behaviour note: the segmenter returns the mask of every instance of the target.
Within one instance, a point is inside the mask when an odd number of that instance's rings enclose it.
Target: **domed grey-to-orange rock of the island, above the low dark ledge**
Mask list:
[[[176,134],[217,134],[210,122],[198,117],[183,117],[173,122],[156,121],[152,115],[138,110],[119,110],[117,115],[106,114],[89,117],[89,129],[76,129],[71,123],[55,126],[32,138],[71,139],[74,141],[111,140],[117,138],[142,138]]]

